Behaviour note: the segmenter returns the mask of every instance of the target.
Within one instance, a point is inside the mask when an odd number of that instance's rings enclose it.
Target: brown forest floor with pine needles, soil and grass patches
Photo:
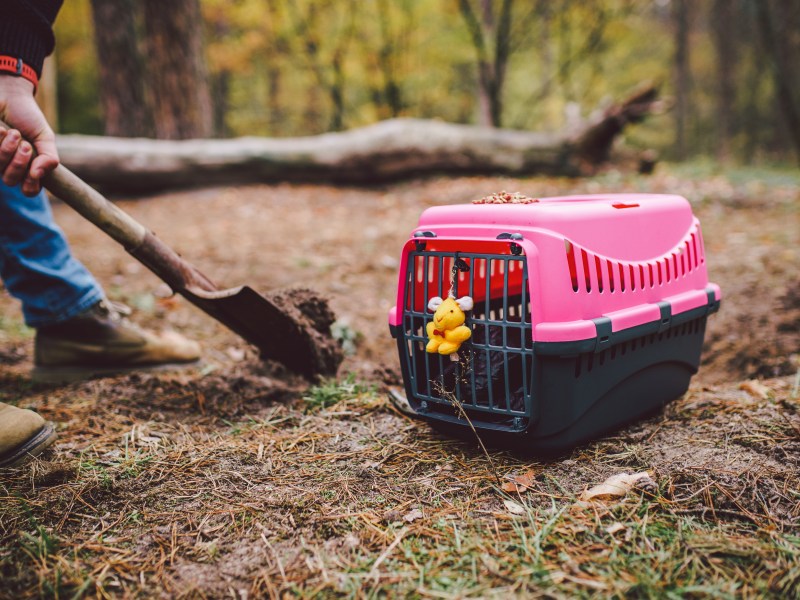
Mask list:
[[[387,401],[404,241],[426,207],[499,190],[692,201],[723,303],[686,396],[546,462],[487,456]],[[328,296],[354,352],[338,381],[309,389],[56,205],[109,296],[199,339],[205,358],[177,374],[35,385],[31,332],[0,297],[0,400],[60,430],[34,469],[0,475],[0,597],[800,593],[800,178],[664,167],[119,204],[220,283]],[[654,485],[610,505],[576,501],[622,471]],[[503,491],[525,474],[527,489]]]

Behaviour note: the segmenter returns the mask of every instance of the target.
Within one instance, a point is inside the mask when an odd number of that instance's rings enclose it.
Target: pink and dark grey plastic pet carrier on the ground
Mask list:
[[[448,336],[428,306],[464,296],[469,339],[454,360],[429,345]],[[416,413],[552,453],[683,394],[720,297],[680,196],[441,206],[403,248],[389,325]]]

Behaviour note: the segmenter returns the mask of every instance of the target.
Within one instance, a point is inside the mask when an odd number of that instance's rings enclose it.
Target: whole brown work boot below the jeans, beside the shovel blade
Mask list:
[[[155,333],[102,300],[76,317],[36,331],[33,379],[66,382],[172,368],[196,362],[200,345],[175,332]]]

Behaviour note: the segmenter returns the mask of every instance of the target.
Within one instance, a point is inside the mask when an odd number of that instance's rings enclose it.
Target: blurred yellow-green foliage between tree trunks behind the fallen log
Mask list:
[[[742,23],[752,1],[731,0]],[[570,125],[567,115],[586,118],[643,81],[659,83],[669,97],[673,2],[513,1],[503,125],[561,130]],[[478,120],[476,51],[459,0],[200,4],[217,135],[309,135],[394,116]],[[690,4],[687,135],[691,154],[712,154],[718,147],[713,2]],[[65,3],[56,34],[60,129],[102,133],[89,0]],[[743,85],[733,99],[728,146],[747,160],[789,159],[764,57],[752,39],[737,48],[736,78]],[[657,116],[626,135],[634,147],[669,156],[675,126],[671,116]]]

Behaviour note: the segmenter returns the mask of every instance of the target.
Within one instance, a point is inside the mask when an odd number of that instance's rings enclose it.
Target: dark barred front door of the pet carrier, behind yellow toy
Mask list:
[[[433,317],[428,300],[446,297],[456,259],[469,269],[458,272],[455,295],[471,296],[474,308],[466,321],[472,337],[452,362],[425,351],[425,326]],[[477,422],[524,426],[522,419],[531,416],[534,360],[526,257],[412,251],[400,353],[412,400],[423,412],[452,413],[457,400]]]

